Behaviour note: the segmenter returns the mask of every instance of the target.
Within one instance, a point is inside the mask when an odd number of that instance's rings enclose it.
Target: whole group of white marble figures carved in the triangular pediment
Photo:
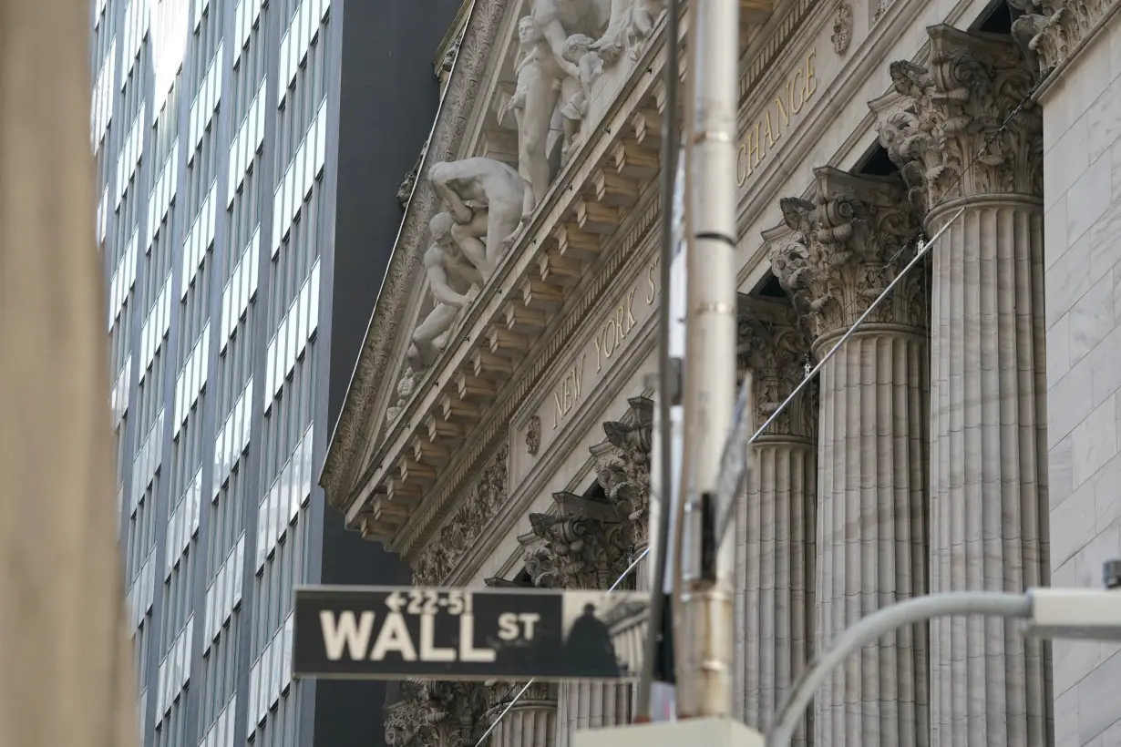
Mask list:
[[[398,400],[387,411],[390,421],[544,199],[554,176],[550,164],[564,164],[578,146],[592,84],[604,64],[626,49],[637,58],[665,9],[665,0],[536,0],[518,22],[517,85],[503,112],[517,123],[518,169],[489,158],[429,168],[441,203],[424,253],[433,307],[413,332]]]

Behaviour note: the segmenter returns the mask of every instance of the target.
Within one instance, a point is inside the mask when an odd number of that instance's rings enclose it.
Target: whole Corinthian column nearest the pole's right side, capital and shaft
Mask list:
[[[741,368],[752,373],[761,424],[802,381],[809,345],[785,301],[741,309]],[[767,732],[813,656],[816,402],[803,391],[756,441],[754,469],[736,516],[735,706]],[[808,744],[806,727],[795,745]]]

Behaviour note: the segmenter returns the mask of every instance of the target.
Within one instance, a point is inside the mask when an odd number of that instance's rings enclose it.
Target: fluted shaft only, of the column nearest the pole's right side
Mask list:
[[[814,653],[817,447],[765,435],[752,448],[738,526],[736,704],[745,723],[766,732]],[[805,726],[794,744],[808,744]]]

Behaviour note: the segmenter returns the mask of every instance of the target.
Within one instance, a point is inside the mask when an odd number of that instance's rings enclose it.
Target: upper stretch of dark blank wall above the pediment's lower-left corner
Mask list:
[[[400,227],[397,188],[439,103],[433,57],[461,0],[345,6],[339,120],[331,395],[334,422]]]

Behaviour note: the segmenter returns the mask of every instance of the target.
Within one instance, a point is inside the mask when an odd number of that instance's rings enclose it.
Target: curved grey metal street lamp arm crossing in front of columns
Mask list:
[[[828,647],[798,678],[767,737],[767,747],[789,747],[802,715],[826,678],[853,652],[878,641],[886,633],[946,615],[1028,618],[1031,616],[1031,597],[1025,594],[958,591],[908,599],[872,613],[834,637]]]

